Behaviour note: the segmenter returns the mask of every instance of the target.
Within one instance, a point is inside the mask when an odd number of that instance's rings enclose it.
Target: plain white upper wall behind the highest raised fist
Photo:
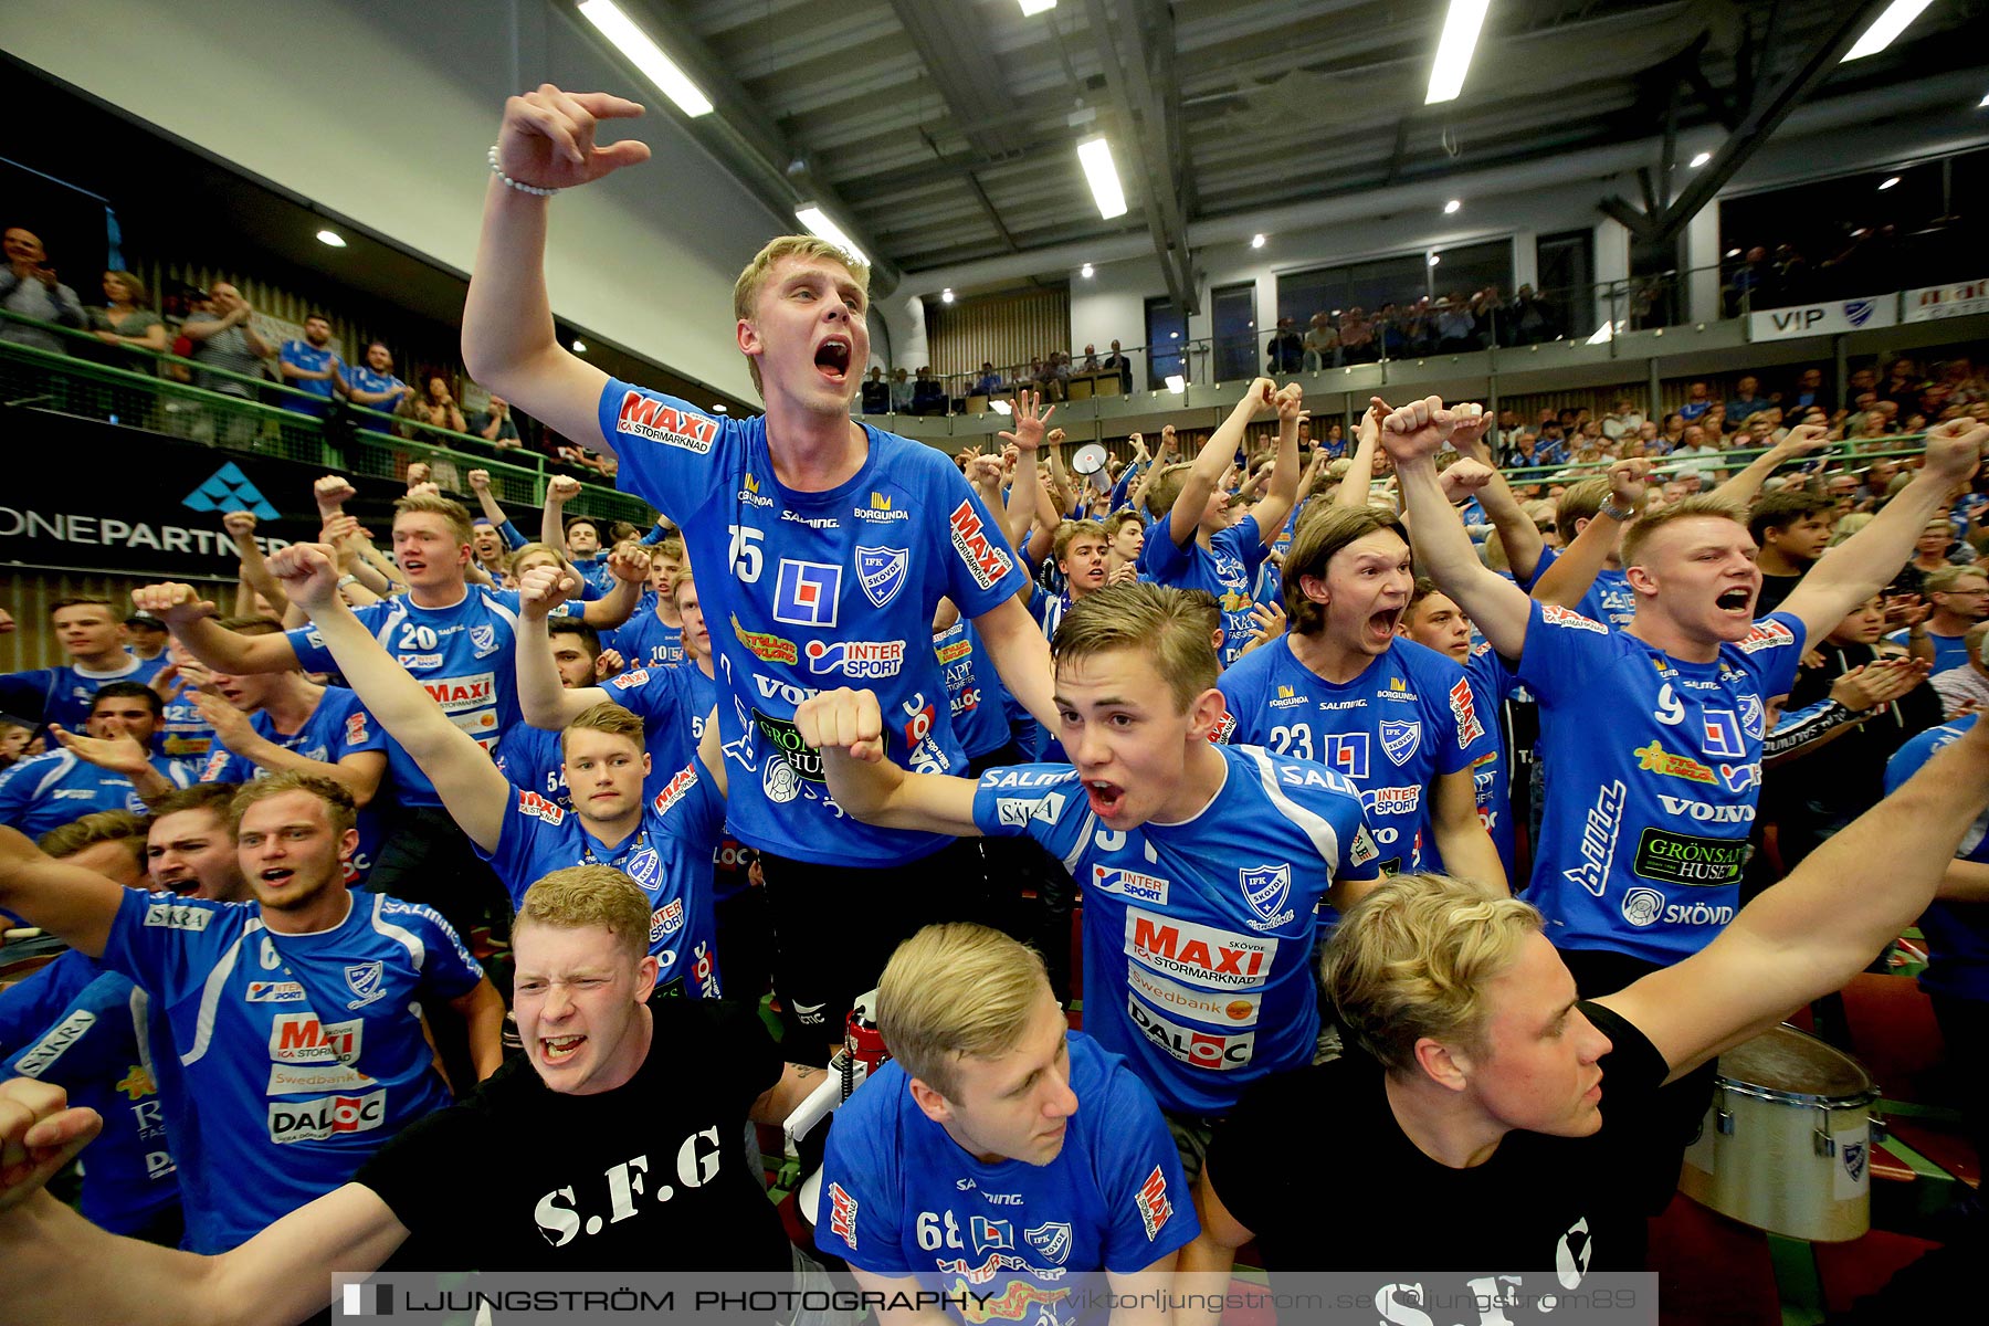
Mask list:
[[[459,270],[473,264],[505,95],[553,82],[642,101],[648,115],[615,137],[640,137],[652,159],[553,199],[553,310],[750,400],[730,336],[732,282],[794,219],[762,207],[668,101],[553,10],[551,0],[8,0],[6,48]]]

